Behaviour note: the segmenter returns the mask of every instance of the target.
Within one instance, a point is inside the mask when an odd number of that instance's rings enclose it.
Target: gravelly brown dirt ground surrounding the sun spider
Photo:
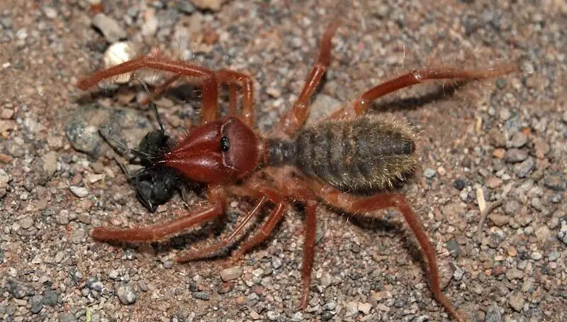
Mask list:
[[[564,1],[229,0],[218,9],[215,2],[196,1],[213,4],[202,9],[190,1],[103,1],[108,19],[101,22],[94,18],[99,7],[90,6],[96,0],[1,1],[3,321],[449,320],[395,211],[361,221],[319,209],[305,311],[297,309],[298,209],[228,271],[223,256],[184,265],[173,258],[230,231],[245,203],[232,202],[226,223],[163,243],[108,245],[89,236],[95,226],[147,225],[185,211],[179,196],[157,213],[143,208],[97,134],[110,123],[135,146],[155,128],[139,103],[144,91],[74,86],[102,67],[110,43],[126,38],[142,44],[140,53],[158,46],[206,67],[249,73],[256,79],[258,128],[266,131],[301,91],[335,16],[342,26],[314,118],[412,68],[520,66],[456,91],[451,84],[403,90],[371,113],[420,133],[421,167],[400,191],[436,245],[454,306],[473,321],[561,321],[567,311]],[[194,96],[157,101],[168,131],[181,133],[198,120]],[[189,196],[189,204],[200,200]],[[488,216],[478,243],[479,206],[497,201],[503,204]]]

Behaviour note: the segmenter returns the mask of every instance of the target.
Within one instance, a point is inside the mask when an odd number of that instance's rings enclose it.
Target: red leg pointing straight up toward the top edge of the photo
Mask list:
[[[303,126],[303,123],[305,123],[308,116],[309,99],[321,82],[323,75],[327,71],[327,67],[329,67],[331,40],[332,36],[335,35],[337,28],[339,28],[339,21],[333,21],[327,27],[327,30],[325,30],[325,35],[321,38],[318,60],[315,63],[315,66],[313,66],[313,69],[311,70],[296,103],[293,104],[291,111],[289,111],[286,116],[283,116],[278,124],[276,133],[292,135],[298,128]]]

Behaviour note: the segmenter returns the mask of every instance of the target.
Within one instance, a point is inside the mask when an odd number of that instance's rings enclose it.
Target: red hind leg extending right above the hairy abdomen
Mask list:
[[[398,89],[410,87],[432,79],[471,80],[492,78],[508,74],[516,69],[517,67],[510,65],[484,70],[459,70],[458,68],[425,68],[422,70],[414,70],[369,89],[357,100],[352,102],[351,105],[344,106],[335,111],[335,113],[332,113],[330,118],[344,119],[359,116],[369,109],[372,101],[386,94],[390,94],[393,91],[397,91]]]

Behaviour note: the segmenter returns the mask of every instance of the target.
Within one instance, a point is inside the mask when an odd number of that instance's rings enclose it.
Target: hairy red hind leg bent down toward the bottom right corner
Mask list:
[[[322,186],[316,182],[313,183],[313,187],[318,189],[321,198],[325,200],[327,204],[344,209],[349,213],[358,215],[366,215],[368,213],[369,216],[376,216],[369,212],[387,208],[398,209],[405,218],[406,223],[408,223],[410,230],[415,235],[425,257],[427,257],[427,266],[429,267],[429,276],[431,279],[430,286],[435,299],[442,304],[451,316],[459,321],[464,321],[461,313],[456,311],[451,304],[451,301],[449,301],[447,296],[445,296],[442,292],[441,284],[439,282],[439,268],[437,267],[435,250],[427,237],[427,233],[425,232],[425,228],[423,228],[420,219],[415,216],[412,206],[409,204],[408,200],[405,199],[403,194],[354,196],[352,194],[342,193],[330,186]]]

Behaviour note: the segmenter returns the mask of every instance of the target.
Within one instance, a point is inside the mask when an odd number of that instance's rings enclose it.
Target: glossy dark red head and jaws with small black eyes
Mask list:
[[[223,118],[194,128],[158,163],[198,182],[234,182],[258,166],[259,142],[238,118]]]

